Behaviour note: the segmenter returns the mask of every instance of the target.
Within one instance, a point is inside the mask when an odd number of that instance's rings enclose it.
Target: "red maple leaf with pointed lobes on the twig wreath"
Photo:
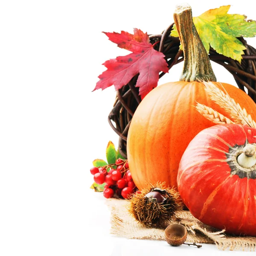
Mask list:
[[[136,87],[140,87],[140,96],[143,99],[154,87],[157,87],[159,72],[168,73],[168,65],[162,52],[153,48],[147,33],[134,29],[134,35],[121,31],[121,34],[103,32],[109,40],[118,47],[132,53],[119,56],[103,63],[107,70],[99,75],[99,81],[94,90],[106,89],[114,85],[115,89],[122,88],[138,73]]]

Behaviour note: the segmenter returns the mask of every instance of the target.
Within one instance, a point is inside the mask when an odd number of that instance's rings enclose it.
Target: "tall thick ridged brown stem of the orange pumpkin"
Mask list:
[[[195,29],[189,4],[176,6],[174,22],[184,54],[184,66],[180,81],[216,81],[208,53]]]

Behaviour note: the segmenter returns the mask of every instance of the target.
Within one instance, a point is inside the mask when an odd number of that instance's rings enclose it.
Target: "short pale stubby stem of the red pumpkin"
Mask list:
[[[247,144],[243,153],[237,157],[237,163],[243,168],[251,168],[256,164],[255,146]]]

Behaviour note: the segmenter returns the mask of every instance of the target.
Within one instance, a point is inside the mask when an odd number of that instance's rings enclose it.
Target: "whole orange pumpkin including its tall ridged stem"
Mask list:
[[[192,21],[190,6],[177,7],[174,14],[184,52],[180,81],[154,88],[138,106],[128,131],[127,155],[134,183],[166,182],[177,187],[180,159],[198,132],[214,125],[195,109],[205,104],[230,117],[213,103],[200,81],[216,81],[208,54]],[[220,87],[218,83],[215,83]],[[256,105],[242,90],[222,84],[229,95],[256,119]]]

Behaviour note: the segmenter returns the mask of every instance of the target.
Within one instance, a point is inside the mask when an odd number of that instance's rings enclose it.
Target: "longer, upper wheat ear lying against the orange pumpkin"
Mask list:
[[[222,86],[226,94],[215,86],[212,82],[203,81],[205,85],[205,90],[210,96],[210,99],[217,103],[221,108],[230,114],[231,118],[236,124],[248,125],[250,127],[256,128],[256,122],[252,119],[251,115],[247,113],[245,108],[241,108],[239,103],[236,103],[233,98],[231,98],[225,88]]]

